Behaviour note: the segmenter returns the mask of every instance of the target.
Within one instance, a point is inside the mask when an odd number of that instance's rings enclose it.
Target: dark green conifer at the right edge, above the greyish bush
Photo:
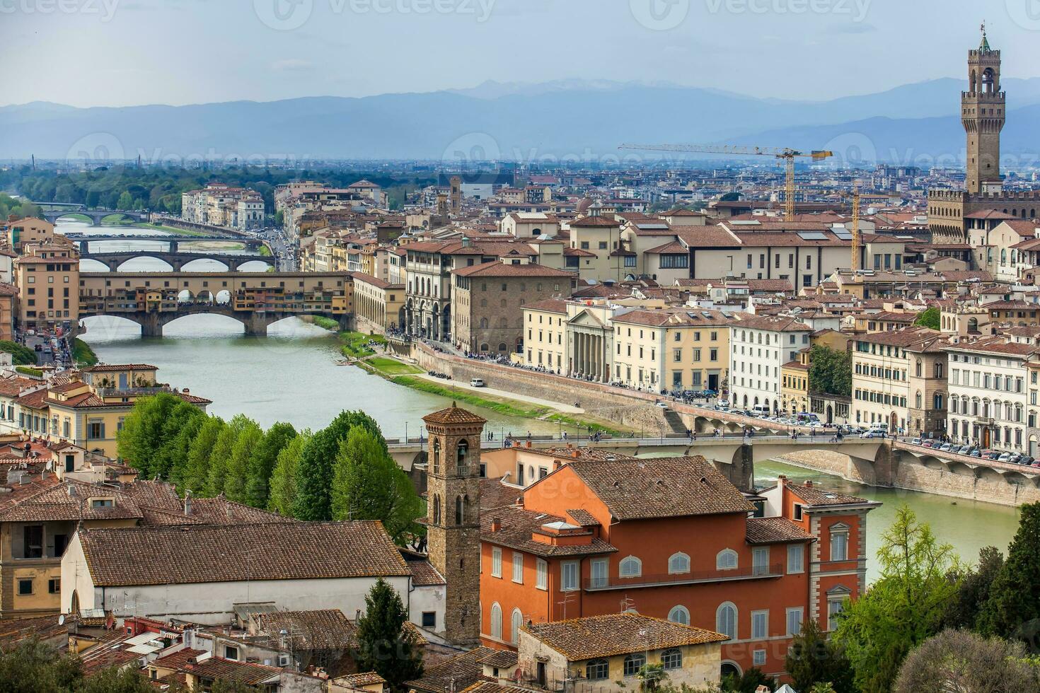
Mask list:
[[[978,619],[983,635],[1023,637],[1023,625],[1040,628],[1040,502],[1021,507],[1018,531],[1008,547],[986,606]]]

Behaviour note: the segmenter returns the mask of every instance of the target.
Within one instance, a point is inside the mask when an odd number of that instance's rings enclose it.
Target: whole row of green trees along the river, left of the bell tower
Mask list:
[[[181,494],[223,494],[306,521],[380,519],[399,542],[421,532],[421,500],[363,411],[343,411],[314,433],[288,423],[264,430],[160,393],[134,404],[118,450],[141,478],[170,481]]]

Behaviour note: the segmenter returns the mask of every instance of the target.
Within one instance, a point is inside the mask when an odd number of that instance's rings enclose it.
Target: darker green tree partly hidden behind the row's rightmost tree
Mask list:
[[[373,433],[384,451],[386,441],[375,421],[364,411],[341,411],[332,423],[308,441],[296,467],[296,498],[293,515],[297,519],[332,519],[332,484],[340,444],[350,429],[360,426]]]

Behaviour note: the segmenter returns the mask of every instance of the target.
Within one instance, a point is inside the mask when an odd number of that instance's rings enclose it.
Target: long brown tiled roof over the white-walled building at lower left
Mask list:
[[[382,523],[87,529],[96,586],[409,576]]]

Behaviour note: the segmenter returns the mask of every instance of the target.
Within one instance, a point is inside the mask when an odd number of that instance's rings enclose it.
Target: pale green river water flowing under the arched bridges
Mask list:
[[[131,229],[101,230],[83,224],[61,224],[60,229],[134,233]],[[140,247],[131,241],[112,243],[106,249]],[[155,259],[141,258],[130,263],[124,269],[168,269],[165,263]],[[200,271],[224,269],[206,261],[196,261],[190,268]],[[99,267],[84,262],[83,269],[97,271]],[[243,269],[254,268],[245,265]],[[226,418],[245,414],[263,426],[276,421],[288,421],[297,428],[317,429],[340,410],[353,408],[364,409],[371,415],[387,437],[402,436],[406,424],[408,434],[414,437],[420,431],[424,415],[449,403],[447,398],[394,384],[358,368],[338,366],[339,351],[335,338],[320,327],[296,320],[278,323],[270,328],[267,338],[259,339],[242,337],[239,323],[219,316],[192,316],[179,320],[165,326],[163,338],[148,340],[140,338],[137,325],[119,318],[92,318],[86,324],[87,331],[83,339],[102,361],[157,366],[162,381],[178,388],[189,388],[192,393],[213,400],[210,411]],[[553,434],[560,431],[556,424],[476,410],[488,419],[488,426],[494,430],[496,438],[509,432],[523,435],[528,430]],[[570,434],[574,435],[575,431],[571,430]],[[755,470],[759,485],[775,482],[779,474],[798,482],[813,479],[837,490],[884,503],[867,518],[867,557],[872,580],[878,575],[874,559],[881,534],[891,524],[896,508],[904,503],[932,526],[940,540],[954,544],[961,557],[970,562],[978,560],[979,549],[987,544],[1006,552],[1018,524],[1015,508],[913,491],[870,488],[781,462],[760,463]]]

